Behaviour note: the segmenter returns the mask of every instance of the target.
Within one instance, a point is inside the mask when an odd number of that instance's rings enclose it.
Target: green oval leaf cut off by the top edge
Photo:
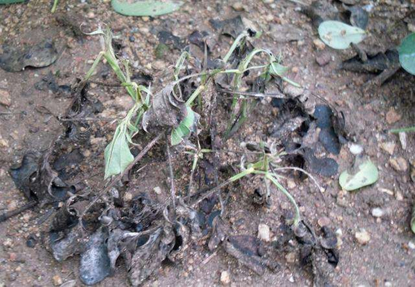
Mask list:
[[[158,16],[178,10],[183,2],[112,0],[111,4],[116,12],[126,16]]]

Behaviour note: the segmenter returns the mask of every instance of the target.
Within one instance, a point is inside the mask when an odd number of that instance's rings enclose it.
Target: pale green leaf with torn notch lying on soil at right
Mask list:
[[[378,177],[378,168],[369,159],[357,159],[350,172],[342,172],[339,184],[344,190],[356,190],[374,184]]]

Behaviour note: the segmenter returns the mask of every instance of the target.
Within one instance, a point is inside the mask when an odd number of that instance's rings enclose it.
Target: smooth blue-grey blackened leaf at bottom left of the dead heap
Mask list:
[[[86,243],[80,261],[80,279],[86,285],[97,284],[111,273],[107,238],[107,230],[99,228]]]

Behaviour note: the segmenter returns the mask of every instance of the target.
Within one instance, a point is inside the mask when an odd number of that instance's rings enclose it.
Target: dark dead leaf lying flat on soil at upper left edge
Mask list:
[[[55,62],[58,56],[55,44],[50,39],[24,48],[3,46],[3,50],[0,68],[8,72],[19,72],[28,66],[46,67]]]

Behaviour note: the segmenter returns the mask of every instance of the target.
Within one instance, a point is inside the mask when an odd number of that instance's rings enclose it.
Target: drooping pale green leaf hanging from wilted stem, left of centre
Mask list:
[[[105,148],[104,158],[105,179],[120,174],[134,160],[128,147],[127,127],[124,124],[117,127],[113,140]]]

